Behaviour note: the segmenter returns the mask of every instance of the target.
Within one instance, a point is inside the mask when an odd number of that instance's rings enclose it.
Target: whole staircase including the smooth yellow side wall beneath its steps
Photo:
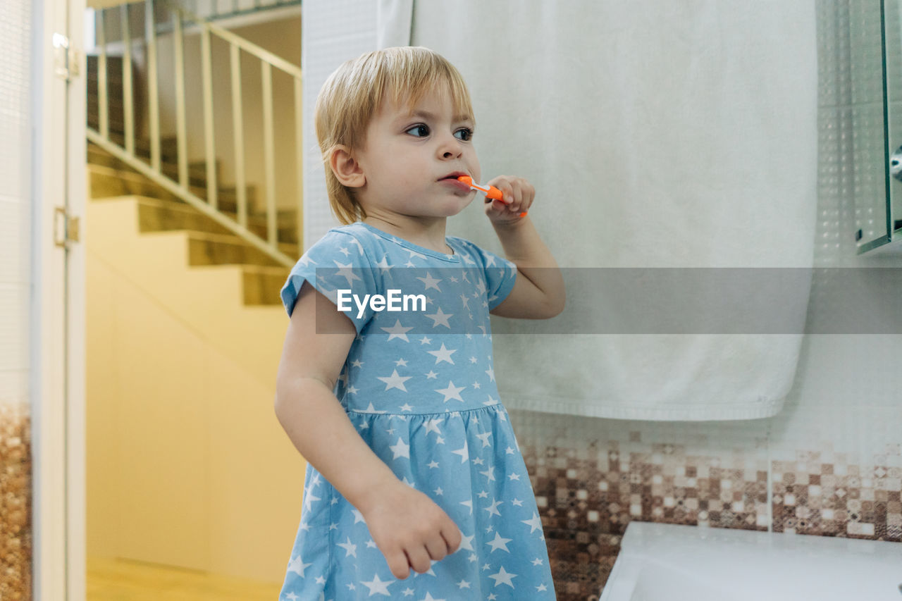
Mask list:
[[[298,211],[273,211],[253,185],[240,205],[219,159],[188,162],[183,187],[175,136],[154,171],[137,69],[127,153],[123,60],[106,56],[103,135],[87,60],[87,554],[278,583],[306,468],[272,414]],[[243,229],[239,206],[246,238],[223,225]]]

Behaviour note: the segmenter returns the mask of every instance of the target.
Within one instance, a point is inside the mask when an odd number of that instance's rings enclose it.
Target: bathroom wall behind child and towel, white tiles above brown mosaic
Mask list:
[[[306,24],[317,31],[303,48],[305,106],[338,57],[375,48],[374,9],[367,4],[305,4]],[[344,23],[345,14],[357,18]],[[898,14],[887,18],[898,23]],[[823,301],[818,283],[830,276],[826,268],[902,266],[902,254],[857,256],[854,237],[856,216],[879,218],[862,216],[861,199],[880,170],[870,160],[882,158],[862,134],[881,126],[874,99],[861,91],[873,89],[874,69],[864,62],[873,49],[852,53],[850,39],[876,43],[879,56],[879,3],[821,0],[817,20],[819,269],[811,307]],[[888,43],[898,54],[897,35]],[[308,174],[321,170],[315,147],[306,146]],[[308,245],[334,225],[321,179],[317,173],[305,180]],[[806,331],[823,326],[818,319],[809,308]],[[891,313],[885,319],[898,331]],[[899,356],[899,335],[807,336],[785,409],[769,420],[612,421],[511,410],[558,598],[600,596],[632,520],[902,541]]]

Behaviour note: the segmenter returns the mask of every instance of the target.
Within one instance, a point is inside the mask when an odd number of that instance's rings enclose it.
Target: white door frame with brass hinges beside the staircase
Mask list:
[[[83,601],[85,0],[32,7],[32,586],[39,601]]]

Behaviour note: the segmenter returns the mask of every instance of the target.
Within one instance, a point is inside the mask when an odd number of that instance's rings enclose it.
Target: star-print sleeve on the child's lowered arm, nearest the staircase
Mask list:
[[[373,269],[364,247],[354,236],[329,231],[310,246],[291,268],[288,280],[281,289],[282,305],[290,317],[300,288],[306,281],[332,301],[336,310],[351,319],[354,329],[360,334],[373,318],[373,309],[370,303],[364,301],[358,304],[354,299],[363,300],[368,294],[381,293],[376,272],[378,269]]]

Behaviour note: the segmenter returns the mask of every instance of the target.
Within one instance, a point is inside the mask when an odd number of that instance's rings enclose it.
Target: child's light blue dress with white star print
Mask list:
[[[290,315],[306,280],[354,322],[336,398],[399,480],[457,524],[460,547],[423,574],[395,578],[363,515],[308,464],[280,601],[556,598],[536,498],[492,369],[489,311],[511,292],[516,265],[463,238],[446,244],[454,254],[359,221],[334,227],[295,264],[281,298]],[[387,301],[367,303],[366,294]],[[403,308],[399,294],[410,296],[407,310],[390,310]]]

